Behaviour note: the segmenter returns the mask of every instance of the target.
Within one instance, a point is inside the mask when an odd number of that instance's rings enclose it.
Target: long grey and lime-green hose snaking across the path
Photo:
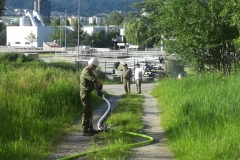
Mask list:
[[[110,113],[111,111],[111,104],[110,102],[104,97],[104,95],[102,96],[103,99],[105,100],[105,102],[107,102],[108,104],[108,109],[107,111],[103,114],[103,116],[100,118],[100,120],[98,121],[97,123],[97,126],[98,126],[98,129],[100,131],[105,131],[104,127],[102,126],[102,123],[103,121],[106,119],[106,117],[108,116],[108,114]],[[127,134],[130,134],[130,135],[133,135],[133,136],[139,136],[139,137],[142,137],[142,138],[146,138],[147,140],[146,141],[142,141],[142,142],[137,142],[137,143],[132,143],[132,144],[127,144],[125,145],[124,147],[140,147],[140,146],[143,146],[143,145],[147,145],[147,144],[150,144],[150,143],[153,143],[153,138],[150,137],[150,136],[147,136],[147,135],[144,135],[144,134],[140,134],[140,133],[134,133],[134,132],[127,132],[127,131],[120,131],[122,133],[127,133]],[[123,146],[121,146],[123,147]],[[119,148],[119,146],[117,146],[116,148]],[[79,157],[84,157],[84,156],[87,156],[88,154],[91,154],[91,153],[97,153],[97,152],[100,152],[100,151],[103,151],[103,150],[108,150],[109,147],[105,147],[105,148],[101,148],[101,149],[98,149],[98,150],[94,150],[94,151],[87,151],[87,152],[82,152],[82,153],[77,153],[77,154],[74,154],[74,155],[70,155],[70,156],[67,156],[67,157],[63,157],[63,158],[60,158],[58,160],[71,160],[71,159],[76,159],[76,158],[79,158]]]

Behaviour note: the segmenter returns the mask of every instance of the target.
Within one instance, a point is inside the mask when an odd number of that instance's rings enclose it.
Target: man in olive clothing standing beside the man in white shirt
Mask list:
[[[125,93],[131,93],[132,70],[128,68],[127,64],[124,64],[123,67],[121,81],[123,82]]]

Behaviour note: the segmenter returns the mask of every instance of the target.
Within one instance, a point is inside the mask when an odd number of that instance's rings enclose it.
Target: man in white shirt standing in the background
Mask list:
[[[141,84],[142,84],[142,76],[144,75],[144,70],[140,68],[140,64],[136,64],[136,69],[134,72],[135,83],[137,87],[137,94],[142,94]]]

